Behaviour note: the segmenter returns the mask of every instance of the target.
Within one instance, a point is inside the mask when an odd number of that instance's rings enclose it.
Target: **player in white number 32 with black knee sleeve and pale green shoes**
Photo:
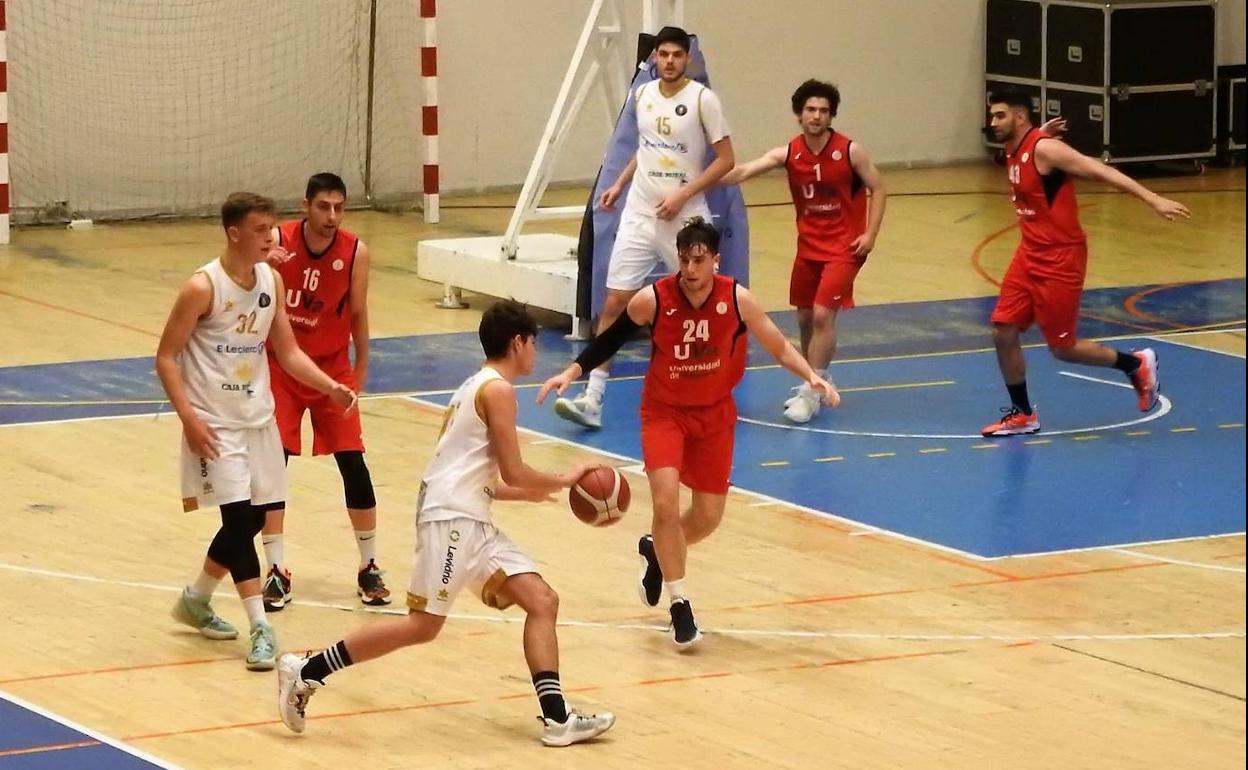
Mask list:
[[[273,419],[265,347],[296,379],[343,409],[356,394],[318,369],[295,342],[273,248],[273,201],[235,192],[221,206],[226,251],[182,285],[156,348],[156,373],[182,421],[182,508],[221,508],[221,529],[173,618],[208,639],[235,639],[210,600],[228,573],[251,621],[247,668],[271,670],[277,640],[265,620],[256,533],[265,505],[286,497],[286,464]]]

